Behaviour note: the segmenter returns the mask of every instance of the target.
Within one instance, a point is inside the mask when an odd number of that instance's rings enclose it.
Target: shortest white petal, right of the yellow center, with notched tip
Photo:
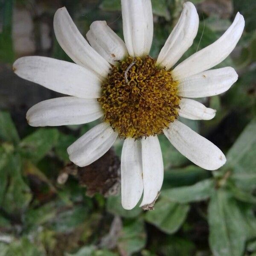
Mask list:
[[[202,103],[193,99],[180,100],[179,116],[192,120],[210,120],[215,116],[216,110],[205,107]]]

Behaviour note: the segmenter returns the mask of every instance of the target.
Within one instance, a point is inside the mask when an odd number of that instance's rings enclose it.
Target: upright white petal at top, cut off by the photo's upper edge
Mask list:
[[[131,56],[148,55],[153,40],[151,0],[121,0],[125,44]]]

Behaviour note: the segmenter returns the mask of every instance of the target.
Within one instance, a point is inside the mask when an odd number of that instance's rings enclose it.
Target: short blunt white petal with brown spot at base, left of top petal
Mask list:
[[[94,21],[86,37],[93,49],[113,65],[128,56],[124,41],[113,32],[106,21]]]

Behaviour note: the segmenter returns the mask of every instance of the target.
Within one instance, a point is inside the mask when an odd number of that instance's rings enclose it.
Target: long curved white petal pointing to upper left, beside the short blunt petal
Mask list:
[[[55,12],[53,28],[61,48],[76,64],[92,70],[98,76],[106,77],[108,75],[110,65],[90,47],[65,7]]]

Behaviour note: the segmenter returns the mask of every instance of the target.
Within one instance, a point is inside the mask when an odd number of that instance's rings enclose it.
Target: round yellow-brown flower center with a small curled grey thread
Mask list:
[[[161,134],[178,116],[180,97],[170,71],[147,56],[113,66],[98,99],[105,122],[122,138]]]

